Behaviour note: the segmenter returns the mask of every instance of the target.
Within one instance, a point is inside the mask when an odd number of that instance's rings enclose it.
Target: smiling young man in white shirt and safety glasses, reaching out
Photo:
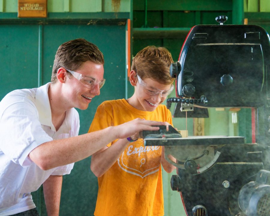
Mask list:
[[[0,102],[0,216],[38,215],[31,192],[41,184],[48,216],[59,215],[62,175],[73,163],[116,139],[158,130],[163,122],[135,119],[101,131],[78,135],[79,115],[104,85],[104,58],[84,39],[59,46],[51,82],[20,89]],[[75,72],[76,71],[76,72]],[[104,136],[106,134],[106,136]]]

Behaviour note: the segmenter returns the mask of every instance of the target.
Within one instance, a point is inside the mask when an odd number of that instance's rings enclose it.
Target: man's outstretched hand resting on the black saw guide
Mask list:
[[[166,125],[166,122],[156,122],[137,118],[122,125],[114,126],[114,128],[119,139],[131,137],[136,140],[140,131],[157,131],[159,129],[159,127],[152,127],[152,125]]]

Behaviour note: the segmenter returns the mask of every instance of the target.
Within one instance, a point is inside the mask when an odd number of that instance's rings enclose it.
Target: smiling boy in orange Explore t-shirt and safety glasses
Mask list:
[[[173,90],[173,63],[164,47],[147,46],[134,57],[131,98],[104,101],[88,132],[140,118],[168,122],[172,115],[162,102]],[[115,145],[115,143],[118,143]],[[164,147],[144,146],[143,139],[114,140],[92,155],[91,170],[98,177],[95,216],[163,216],[161,165],[168,173],[175,167],[164,158]]]

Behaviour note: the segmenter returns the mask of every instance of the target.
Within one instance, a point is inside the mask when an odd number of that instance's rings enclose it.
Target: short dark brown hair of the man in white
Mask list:
[[[58,47],[52,67],[51,82],[56,82],[56,74],[59,67],[69,70],[77,70],[83,62],[92,61],[96,64],[104,64],[102,52],[95,44],[78,38],[67,41]]]

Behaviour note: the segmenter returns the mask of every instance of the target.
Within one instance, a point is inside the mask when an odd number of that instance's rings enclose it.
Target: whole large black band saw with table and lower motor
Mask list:
[[[256,25],[194,26],[171,66],[177,98],[167,105],[190,107],[250,107],[254,139],[187,137],[163,139],[173,155],[177,175],[173,190],[181,193],[188,216],[270,215],[270,42]],[[165,138],[164,138],[165,137]],[[145,145],[151,145],[145,139]],[[152,143],[153,144],[153,143]]]

